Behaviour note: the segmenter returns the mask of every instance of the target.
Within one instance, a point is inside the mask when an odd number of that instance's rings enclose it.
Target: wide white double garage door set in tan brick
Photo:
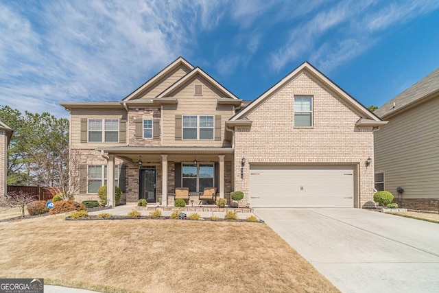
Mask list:
[[[250,165],[251,207],[354,207],[350,166]]]

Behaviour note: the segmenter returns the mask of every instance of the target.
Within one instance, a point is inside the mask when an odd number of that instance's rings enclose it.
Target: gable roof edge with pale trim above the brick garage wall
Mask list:
[[[382,124],[381,119],[377,115],[370,112],[368,108],[366,108],[363,104],[358,102],[354,97],[346,93],[346,91],[340,88],[340,86],[337,86],[337,84],[335,84],[332,80],[327,78],[326,75],[318,71],[316,67],[313,67],[307,61],[303,62],[302,65],[299,65],[298,67],[296,67],[296,69],[288,73],[285,76],[285,78],[274,84],[274,86],[272,86],[270,89],[265,91],[265,93],[254,99],[254,101],[251,102],[246,108],[244,108],[239,113],[231,117],[230,121],[242,119],[247,115],[249,115],[250,113],[252,113],[266,100],[270,99],[272,95],[283,89],[284,86],[292,82],[292,80],[296,79],[303,72],[309,73],[311,78],[317,80],[320,83],[323,83],[325,86],[328,86],[329,89],[335,91],[335,93],[337,93],[340,97],[342,97],[351,106],[351,108],[357,110],[357,113],[360,113],[362,118],[368,119],[370,121],[378,122],[376,124]]]

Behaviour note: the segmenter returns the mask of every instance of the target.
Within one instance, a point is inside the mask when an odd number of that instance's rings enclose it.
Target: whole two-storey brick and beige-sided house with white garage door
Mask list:
[[[127,203],[164,206],[176,187],[194,204],[217,187],[254,207],[373,205],[366,161],[385,122],[307,62],[247,104],[181,57],[119,102],[62,104],[79,157],[75,198],[108,183],[113,206],[114,185]]]

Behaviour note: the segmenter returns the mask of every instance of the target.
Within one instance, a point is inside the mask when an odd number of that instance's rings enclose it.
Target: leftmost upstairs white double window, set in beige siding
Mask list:
[[[119,142],[119,119],[88,119],[88,142]]]

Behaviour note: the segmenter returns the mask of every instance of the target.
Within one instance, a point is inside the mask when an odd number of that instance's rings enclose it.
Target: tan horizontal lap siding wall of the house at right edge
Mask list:
[[[403,198],[439,198],[439,97],[391,117],[375,132],[375,171]]]

